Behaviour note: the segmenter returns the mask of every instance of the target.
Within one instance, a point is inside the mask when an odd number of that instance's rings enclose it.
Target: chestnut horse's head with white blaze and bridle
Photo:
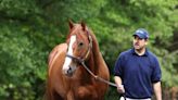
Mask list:
[[[69,22],[69,35],[66,40],[68,49],[63,65],[63,73],[72,76],[77,66],[90,57],[92,39],[85,23]]]

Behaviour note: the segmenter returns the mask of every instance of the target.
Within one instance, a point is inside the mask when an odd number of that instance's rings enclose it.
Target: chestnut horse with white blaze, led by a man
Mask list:
[[[104,100],[110,79],[109,68],[96,36],[85,23],[69,22],[65,43],[49,55],[47,100]]]

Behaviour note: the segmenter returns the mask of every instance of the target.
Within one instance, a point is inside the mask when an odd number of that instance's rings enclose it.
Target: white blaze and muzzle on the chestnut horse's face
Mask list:
[[[73,55],[73,45],[76,41],[76,36],[71,36],[67,54]],[[66,57],[63,65],[63,73],[65,75],[72,75],[76,70],[76,63],[73,62],[72,58]]]

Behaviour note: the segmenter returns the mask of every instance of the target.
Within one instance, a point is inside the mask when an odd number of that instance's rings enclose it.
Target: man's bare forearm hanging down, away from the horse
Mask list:
[[[154,83],[153,84],[153,89],[154,89],[154,93],[155,93],[156,100],[162,100],[161,82]]]

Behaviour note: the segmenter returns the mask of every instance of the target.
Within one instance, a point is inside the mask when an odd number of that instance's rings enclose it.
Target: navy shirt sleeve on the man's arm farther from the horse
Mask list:
[[[161,77],[162,77],[161,66],[158,64],[158,60],[155,58],[153,73],[151,77],[152,83],[161,82]]]

